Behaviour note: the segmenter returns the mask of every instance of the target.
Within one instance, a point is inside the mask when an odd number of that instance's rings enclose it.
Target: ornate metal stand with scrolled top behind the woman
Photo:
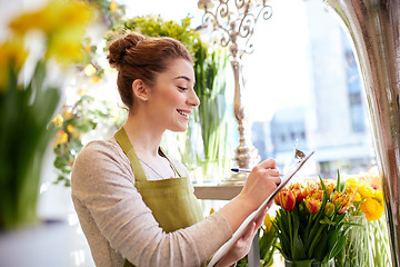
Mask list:
[[[272,14],[272,9],[270,6],[267,6],[267,0],[219,0],[217,8],[213,8],[211,0],[200,0],[199,8],[204,9],[203,27],[212,26],[213,31],[221,34],[221,44],[229,47],[234,76],[233,113],[239,130],[239,145],[236,149],[234,161],[240,168],[251,168],[260,160],[260,156],[252,146],[251,126],[242,105],[241,93],[244,82],[241,58],[244,53],[253,51],[253,44],[250,42],[250,39],[259,17],[262,16],[264,20],[269,19]],[[247,175],[244,174],[236,174],[222,180],[222,182],[241,184],[246,178]]]

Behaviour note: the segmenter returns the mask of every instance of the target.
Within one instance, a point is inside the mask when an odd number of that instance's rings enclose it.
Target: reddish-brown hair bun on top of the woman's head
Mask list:
[[[107,56],[110,66],[119,70],[127,51],[132,47],[138,46],[141,40],[144,40],[144,37],[139,33],[130,33],[126,37],[114,40],[110,44],[109,55]]]

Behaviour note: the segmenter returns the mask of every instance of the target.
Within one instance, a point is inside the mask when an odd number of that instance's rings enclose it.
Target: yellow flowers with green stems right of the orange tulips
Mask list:
[[[348,233],[343,250],[337,257],[337,266],[391,266],[387,220],[382,216],[384,201],[378,171],[350,176],[346,184],[357,188],[354,201],[346,219],[359,226]]]

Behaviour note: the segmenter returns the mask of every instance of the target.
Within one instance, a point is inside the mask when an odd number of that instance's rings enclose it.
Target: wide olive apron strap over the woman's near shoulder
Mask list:
[[[143,168],[140,165],[139,158],[136,155],[136,152],[133,150],[133,146],[129,141],[128,135],[124,131],[123,127],[121,127],[116,132],[114,138],[118,141],[118,144],[121,146],[121,148],[123,149],[124,154],[128,156],[128,158],[131,162],[132,171],[134,175],[134,180],[136,181],[144,181],[146,175],[144,175]]]

